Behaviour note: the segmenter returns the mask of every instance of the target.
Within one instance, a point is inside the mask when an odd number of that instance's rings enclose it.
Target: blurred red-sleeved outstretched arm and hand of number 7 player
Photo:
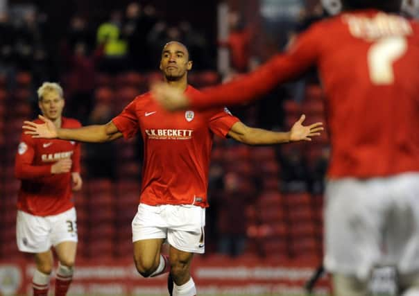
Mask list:
[[[323,30],[317,26],[298,37],[296,44],[284,54],[275,55],[255,71],[241,76],[225,85],[188,94],[168,85],[153,86],[155,100],[167,110],[182,110],[188,107],[207,109],[246,103],[260,98],[278,84],[297,78],[314,66],[320,56],[319,38]]]

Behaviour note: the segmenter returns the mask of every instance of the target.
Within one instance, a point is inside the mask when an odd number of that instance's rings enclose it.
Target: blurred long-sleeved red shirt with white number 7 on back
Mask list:
[[[419,171],[419,24],[396,15],[366,10],[320,21],[245,78],[189,96],[191,106],[248,101],[312,66],[326,94],[329,177]]]

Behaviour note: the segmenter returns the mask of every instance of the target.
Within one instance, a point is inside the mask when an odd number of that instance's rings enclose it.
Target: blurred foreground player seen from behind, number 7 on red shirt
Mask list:
[[[419,289],[419,24],[400,16],[400,0],[326,2],[343,13],[253,73],[195,94],[156,85],[153,95],[170,110],[243,103],[317,66],[332,144],[324,264],[334,293],[366,295],[372,268],[386,264],[410,293]],[[417,3],[404,4],[417,12]]]

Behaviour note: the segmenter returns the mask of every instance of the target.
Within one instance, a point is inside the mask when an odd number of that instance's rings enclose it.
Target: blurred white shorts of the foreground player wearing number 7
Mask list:
[[[374,265],[419,270],[419,174],[328,181],[325,268],[366,279]]]

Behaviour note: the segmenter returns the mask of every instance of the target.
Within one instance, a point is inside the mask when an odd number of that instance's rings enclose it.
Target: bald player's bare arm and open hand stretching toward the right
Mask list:
[[[289,132],[273,132],[261,128],[250,128],[241,121],[234,123],[228,132],[228,136],[248,145],[270,145],[289,143],[291,141],[311,141],[311,137],[320,135],[323,123],[302,125],[305,115],[302,115]]]

